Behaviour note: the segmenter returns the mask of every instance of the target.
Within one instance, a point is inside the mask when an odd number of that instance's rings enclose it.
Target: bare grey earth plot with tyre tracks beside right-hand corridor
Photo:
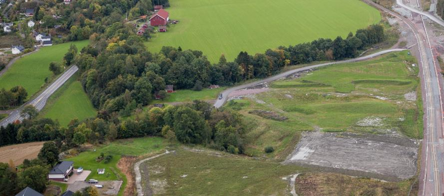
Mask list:
[[[413,177],[418,144],[396,136],[304,132],[284,162],[389,181]]]

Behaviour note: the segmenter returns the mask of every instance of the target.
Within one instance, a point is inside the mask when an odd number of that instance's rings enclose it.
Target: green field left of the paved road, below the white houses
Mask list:
[[[10,89],[14,86],[23,86],[28,92],[28,97],[37,92],[44,84],[45,78],[51,78],[49,63],[61,62],[71,43],[80,51],[88,44],[88,40],[68,42],[40,48],[38,52],[24,56],[0,76],[0,88]]]

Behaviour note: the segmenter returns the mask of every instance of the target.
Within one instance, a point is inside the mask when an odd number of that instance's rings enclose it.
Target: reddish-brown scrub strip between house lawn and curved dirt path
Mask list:
[[[123,191],[124,196],[134,196],[136,185],[134,183],[134,174],[132,168],[136,161],[137,157],[123,156],[117,163],[117,167],[120,171],[122,171],[123,174],[125,174],[127,179],[127,184],[125,190]]]

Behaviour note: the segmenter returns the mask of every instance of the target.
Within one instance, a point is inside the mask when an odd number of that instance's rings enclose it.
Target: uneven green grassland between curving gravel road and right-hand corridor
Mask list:
[[[412,66],[415,62],[405,51],[332,65],[296,79],[276,81],[269,91],[229,102],[226,107],[239,110],[249,122],[247,154],[255,156],[263,154],[264,147],[273,146],[277,150],[270,156],[284,159],[301,131],[384,134],[396,130],[421,139],[422,101],[418,66]],[[407,93],[418,96],[417,100],[406,100]],[[273,120],[260,116],[257,110],[288,119]],[[380,123],[358,125],[366,118]]]

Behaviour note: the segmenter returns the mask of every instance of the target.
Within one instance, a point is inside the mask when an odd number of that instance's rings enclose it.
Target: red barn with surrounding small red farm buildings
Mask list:
[[[149,23],[151,26],[158,26],[159,32],[166,32],[166,24],[169,20],[169,13],[163,9],[162,5],[154,5],[154,14],[149,17]],[[137,30],[138,35],[143,35],[148,24],[143,24],[139,30]]]

